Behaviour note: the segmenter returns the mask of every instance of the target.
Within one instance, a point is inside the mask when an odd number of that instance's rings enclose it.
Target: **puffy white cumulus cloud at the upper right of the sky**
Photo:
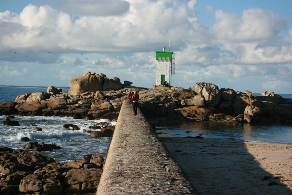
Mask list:
[[[244,10],[242,15],[215,11],[211,28],[216,42],[249,42],[272,39],[286,28],[285,18],[260,8]]]

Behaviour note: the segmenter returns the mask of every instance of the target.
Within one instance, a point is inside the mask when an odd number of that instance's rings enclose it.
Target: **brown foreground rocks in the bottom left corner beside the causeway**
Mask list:
[[[39,153],[0,148],[1,194],[94,194],[103,158],[86,155],[63,165]],[[80,164],[80,163],[79,163]],[[72,166],[70,166],[72,165]]]

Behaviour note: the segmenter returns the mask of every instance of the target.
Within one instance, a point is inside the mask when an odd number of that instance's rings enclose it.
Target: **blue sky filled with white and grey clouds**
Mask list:
[[[0,0],[0,85],[69,86],[91,71],[151,88],[155,51],[170,39],[173,86],[292,94],[291,7],[291,0]]]

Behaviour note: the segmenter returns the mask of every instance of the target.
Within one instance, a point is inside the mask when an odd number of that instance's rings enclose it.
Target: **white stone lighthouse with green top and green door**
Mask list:
[[[157,71],[156,85],[167,81],[171,85],[171,76],[175,74],[175,54],[172,51],[156,51]]]

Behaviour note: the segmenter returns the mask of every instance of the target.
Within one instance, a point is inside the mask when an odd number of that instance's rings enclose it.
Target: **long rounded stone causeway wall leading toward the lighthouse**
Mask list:
[[[133,116],[124,100],[95,194],[198,193],[145,116]]]

